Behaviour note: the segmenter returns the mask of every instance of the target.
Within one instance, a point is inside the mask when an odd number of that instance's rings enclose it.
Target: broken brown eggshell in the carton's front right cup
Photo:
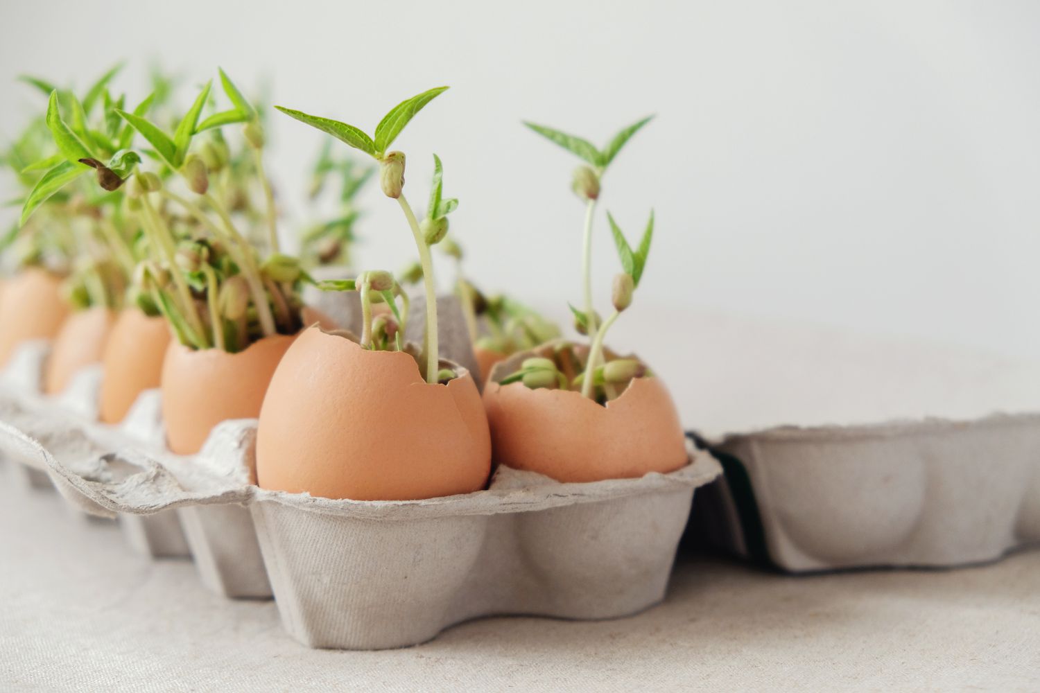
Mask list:
[[[498,464],[580,482],[674,472],[687,461],[679,415],[657,377],[635,378],[606,406],[579,392],[489,381],[484,404]]]

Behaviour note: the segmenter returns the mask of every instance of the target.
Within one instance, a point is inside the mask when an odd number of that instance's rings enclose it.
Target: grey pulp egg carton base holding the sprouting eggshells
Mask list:
[[[347,649],[413,645],[482,616],[642,611],[664,598],[695,488],[721,473],[710,454],[691,447],[686,467],[640,479],[560,483],[499,468],[473,494],[329,500],[257,487],[255,443],[256,421],[242,420],[217,426],[185,469],[176,469],[184,460],[129,448],[96,455],[80,471],[42,444],[35,453],[95,511],[220,518],[248,507],[259,551],[243,553],[241,537],[220,524],[214,575],[258,591],[269,578],[293,638]],[[192,521],[184,526],[190,541]]]

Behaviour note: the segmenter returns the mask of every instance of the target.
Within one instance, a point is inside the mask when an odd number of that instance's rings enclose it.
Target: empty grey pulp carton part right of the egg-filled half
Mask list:
[[[953,567],[1040,544],[1040,415],[779,427],[708,444],[692,527],[792,572]]]

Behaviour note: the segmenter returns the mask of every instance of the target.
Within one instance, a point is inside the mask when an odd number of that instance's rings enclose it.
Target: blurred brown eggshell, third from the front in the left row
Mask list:
[[[170,325],[162,316],[150,317],[136,308],[120,312],[101,358],[103,422],[123,421],[138,395],[159,387],[170,340]]]

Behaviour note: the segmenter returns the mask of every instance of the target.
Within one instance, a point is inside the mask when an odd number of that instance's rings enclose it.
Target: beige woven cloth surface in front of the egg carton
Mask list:
[[[207,592],[189,561],[0,465],[0,690],[630,691],[1040,688],[1040,552],[953,571],[787,577],[681,555],[632,618],[492,618],[424,645],[324,651],[270,602]]]

